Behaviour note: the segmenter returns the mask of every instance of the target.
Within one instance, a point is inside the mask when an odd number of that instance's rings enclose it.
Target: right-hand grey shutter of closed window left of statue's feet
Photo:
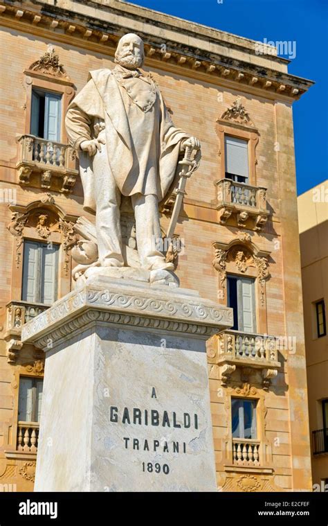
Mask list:
[[[40,301],[51,305],[57,299],[59,245],[42,244]]]

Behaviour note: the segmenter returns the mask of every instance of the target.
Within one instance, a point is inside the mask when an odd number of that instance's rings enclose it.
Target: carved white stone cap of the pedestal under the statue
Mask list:
[[[144,330],[208,338],[233,324],[232,310],[179,288],[136,287],[124,280],[90,283],[39,314],[21,330],[21,341],[46,348],[49,338],[60,344],[67,335],[89,324],[106,322]]]

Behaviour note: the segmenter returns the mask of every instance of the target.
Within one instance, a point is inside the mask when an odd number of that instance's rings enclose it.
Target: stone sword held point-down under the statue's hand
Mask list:
[[[199,167],[199,163],[201,162],[201,150],[197,150],[194,159],[192,159],[192,150],[193,148],[191,146],[187,146],[187,148],[185,148],[185,156],[178,163],[181,166],[181,171],[179,173],[179,186],[175,191],[176,200],[172,211],[170,225],[166,233],[166,239],[170,241],[170,243],[172,243],[172,237],[182,207],[183,197],[185,195],[185,184],[187,183],[187,179],[189,179],[192,173],[194,173],[194,171],[197,170],[197,168]]]

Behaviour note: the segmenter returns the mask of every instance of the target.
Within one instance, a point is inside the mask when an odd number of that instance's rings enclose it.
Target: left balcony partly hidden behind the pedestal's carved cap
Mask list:
[[[16,362],[17,352],[21,349],[21,326],[43,313],[47,308],[49,308],[48,305],[33,304],[28,301],[10,301],[6,305],[7,320],[4,338],[7,342],[8,363]]]

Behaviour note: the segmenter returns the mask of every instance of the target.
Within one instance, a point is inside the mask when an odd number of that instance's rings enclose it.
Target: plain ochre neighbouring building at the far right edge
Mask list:
[[[328,491],[328,181],[298,197],[313,489]]]

